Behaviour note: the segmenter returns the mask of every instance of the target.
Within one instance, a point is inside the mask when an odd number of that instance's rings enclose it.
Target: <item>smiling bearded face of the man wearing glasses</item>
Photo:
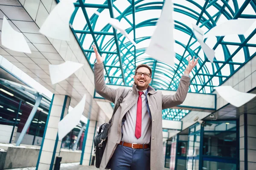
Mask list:
[[[138,72],[139,73],[148,73],[150,75],[150,71],[146,67],[140,67],[137,70],[137,73],[135,73],[135,75],[134,75],[134,83],[137,85],[137,88],[139,90],[145,90],[148,88],[148,85],[152,80],[151,75],[149,77],[145,77],[144,74],[139,76],[140,74],[138,74]]]

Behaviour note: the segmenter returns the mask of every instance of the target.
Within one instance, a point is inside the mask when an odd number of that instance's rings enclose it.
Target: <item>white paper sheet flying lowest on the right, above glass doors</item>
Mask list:
[[[237,91],[229,85],[215,87],[215,90],[224,100],[236,107],[244,105],[256,96],[256,94],[242,93]]]

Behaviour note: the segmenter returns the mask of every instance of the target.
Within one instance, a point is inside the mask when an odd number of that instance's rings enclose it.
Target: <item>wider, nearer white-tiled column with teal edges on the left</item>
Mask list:
[[[54,94],[49,108],[44,136],[38,156],[36,170],[52,170],[59,155],[61,141],[58,139],[58,122],[67,115],[70,97]]]

